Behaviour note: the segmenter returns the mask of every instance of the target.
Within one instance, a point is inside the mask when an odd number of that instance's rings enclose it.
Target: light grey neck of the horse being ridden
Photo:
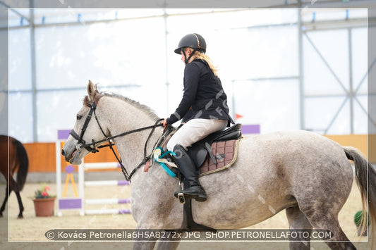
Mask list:
[[[103,99],[103,101],[102,101]],[[119,135],[123,132],[137,130],[142,127],[148,127],[154,125],[157,121],[157,117],[152,117],[150,112],[148,113],[145,108],[140,108],[138,105],[134,105],[123,101],[121,99],[102,97],[99,104],[101,105],[101,111],[106,118],[107,129],[111,133],[111,136]],[[162,135],[162,127],[156,127],[152,136],[147,141],[151,130],[142,130],[140,132],[134,132],[122,137],[114,139],[116,148],[119,151],[123,165],[126,167],[128,173],[131,173],[144,158],[144,148],[147,142],[147,155],[152,153],[152,147],[155,142]]]

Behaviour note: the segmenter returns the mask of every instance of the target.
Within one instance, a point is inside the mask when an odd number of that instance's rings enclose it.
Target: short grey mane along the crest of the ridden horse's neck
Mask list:
[[[145,112],[153,120],[159,120],[159,116],[155,114],[155,112],[152,110],[152,108],[150,108],[149,106],[146,106],[144,104],[140,104],[138,101],[130,99],[126,96],[122,96],[121,94],[108,93],[108,92],[98,92],[96,90],[95,95],[94,95],[95,103],[98,103],[99,99],[101,99],[103,96],[108,96],[108,97],[111,97],[111,98],[120,99],[121,101],[125,101],[126,103],[131,104],[131,106],[135,106],[135,108],[138,108],[141,111]],[[86,106],[91,106],[90,99],[89,99],[88,96],[85,96],[83,103]]]

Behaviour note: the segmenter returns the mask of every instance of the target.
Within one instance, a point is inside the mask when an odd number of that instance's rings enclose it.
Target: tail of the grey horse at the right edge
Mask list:
[[[364,232],[370,220],[370,228],[372,239],[375,239],[376,232],[376,170],[370,163],[361,155],[358,149],[350,146],[344,146],[344,151],[347,158],[354,162],[356,184],[360,189],[360,196],[362,197],[362,232]],[[368,187],[367,187],[368,186]],[[368,218],[367,218],[367,204],[368,204]],[[373,245],[373,240],[372,240]]]

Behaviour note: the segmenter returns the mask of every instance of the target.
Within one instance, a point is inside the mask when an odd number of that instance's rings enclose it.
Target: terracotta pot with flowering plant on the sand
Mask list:
[[[42,185],[40,189],[35,190],[34,201],[36,216],[52,216],[54,215],[55,195],[49,194],[50,188]]]

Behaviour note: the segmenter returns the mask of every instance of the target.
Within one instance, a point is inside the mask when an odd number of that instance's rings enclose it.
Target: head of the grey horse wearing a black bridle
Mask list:
[[[74,165],[80,164],[90,152],[95,153],[96,146],[100,144],[99,142],[105,142],[109,134],[107,128],[99,124],[95,113],[101,97],[97,85],[89,80],[83,107],[78,111],[73,130],[61,150],[65,160]]]

